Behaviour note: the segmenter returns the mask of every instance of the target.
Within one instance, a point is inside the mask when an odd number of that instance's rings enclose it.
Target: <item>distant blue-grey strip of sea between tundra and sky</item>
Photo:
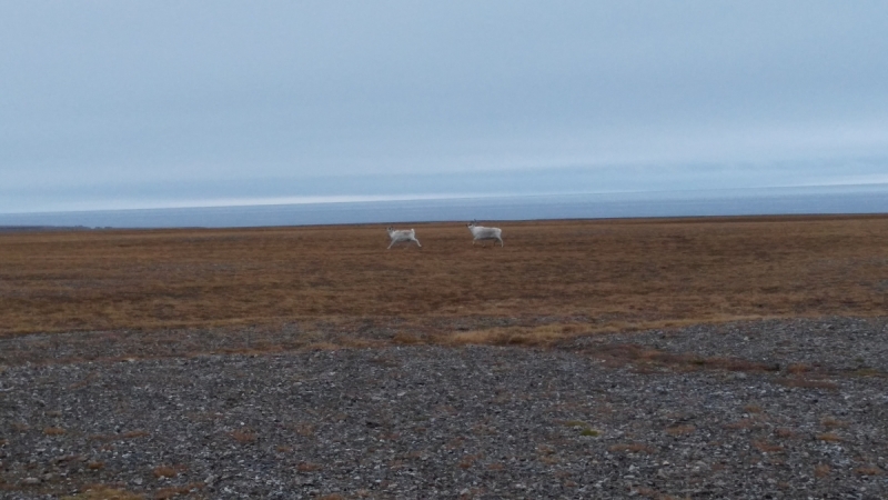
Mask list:
[[[224,228],[808,213],[888,213],[888,184],[0,213],[0,227]]]

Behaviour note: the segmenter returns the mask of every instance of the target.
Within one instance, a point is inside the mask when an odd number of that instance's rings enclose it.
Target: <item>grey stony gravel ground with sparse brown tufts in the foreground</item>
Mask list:
[[[0,367],[0,497],[884,499],[886,346],[833,318]]]

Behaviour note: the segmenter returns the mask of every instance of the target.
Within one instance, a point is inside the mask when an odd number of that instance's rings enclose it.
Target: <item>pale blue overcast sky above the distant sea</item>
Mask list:
[[[884,1],[2,1],[0,212],[888,183]]]

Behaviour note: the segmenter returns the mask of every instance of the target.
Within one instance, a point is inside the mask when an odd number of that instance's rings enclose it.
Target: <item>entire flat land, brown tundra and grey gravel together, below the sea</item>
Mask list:
[[[888,216],[0,233],[0,498],[888,498]]]

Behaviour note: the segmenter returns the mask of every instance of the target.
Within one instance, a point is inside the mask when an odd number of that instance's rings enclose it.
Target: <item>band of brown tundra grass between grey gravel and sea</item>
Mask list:
[[[0,233],[0,336],[396,321],[411,343],[458,319],[460,343],[524,344],[886,314],[888,216],[501,222],[495,249],[462,223],[410,226],[422,249],[386,250],[384,224]],[[542,316],[564,324],[521,323]]]

